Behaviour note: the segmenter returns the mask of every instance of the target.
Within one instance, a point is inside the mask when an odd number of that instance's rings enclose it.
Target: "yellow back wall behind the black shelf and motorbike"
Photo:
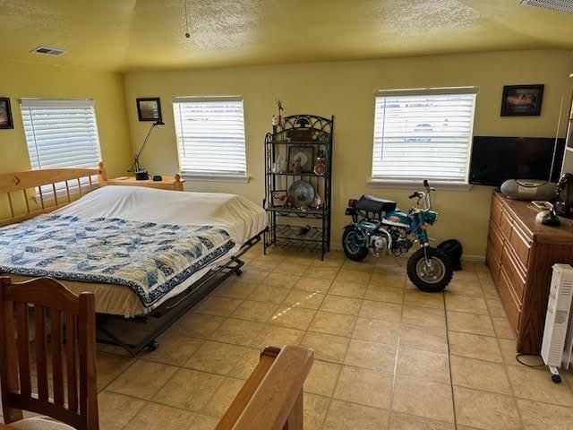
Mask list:
[[[279,48],[279,47],[278,47]],[[135,98],[160,97],[165,127],[156,130],[143,155],[158,174],[177,171],[177,151],[171,100],[175,96],[236,95],[244,97],[248,184],[197,182],[187,190],[244,194],[253,202],[263,196],[263,137],[276,113],[275,100],[285,102],[286,115],[312,113],[336,116],[334,139],[333,245],[346,224],[349,197],[375,193],[396,199],[407,209],[411,189],[369,188],[372,171],[373,93],[378,89],[440,86],[480,87],[475,108],[475,134],[553,136],[562,94],[569,98],[573,72],[568,51],[524,51],[491,54],[426,56],[363,62],[235,67],[125,75],[125,92],[133,148],[149,128],[140,123]],[[504,84],[544,83],[540,117],[500,117]],[[566,113],[564,113],[564,116]],[[563,124],[561,134],[564,133]],[[465,254],[483,256],[491,188],[440,191],[434,198],[440,219],[432,236],[458,238]]]

